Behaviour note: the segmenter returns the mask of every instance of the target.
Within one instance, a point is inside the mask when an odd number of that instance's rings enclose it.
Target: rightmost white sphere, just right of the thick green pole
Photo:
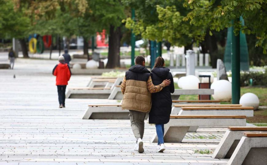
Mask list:
[[[254,110],[257,110],[259,108],[260,100],[256,94],[246,93],[240,98],[239,104],[243,107],[253,107]]]

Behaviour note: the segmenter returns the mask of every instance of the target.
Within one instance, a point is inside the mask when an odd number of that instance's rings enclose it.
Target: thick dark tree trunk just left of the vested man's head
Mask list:
[[[120,67],[120,27],[109,27],[109,53],[106,68]]]

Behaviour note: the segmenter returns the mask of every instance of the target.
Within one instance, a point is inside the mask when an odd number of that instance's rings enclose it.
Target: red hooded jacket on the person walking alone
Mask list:
[[[53,69],[53,75],[56,76],[55,85],[68,85],[71,78],[71,69],[68,64],[57,64]]]

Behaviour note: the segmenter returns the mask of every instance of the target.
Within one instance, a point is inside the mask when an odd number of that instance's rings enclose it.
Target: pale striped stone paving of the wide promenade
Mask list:
[[[133,151],[135,139],[129,120],[81,119],[88,104],[115,100],[66,99],[67,108],[58,108],[55,77],[51,75],[56,63],[17,59],[14,70],[0,70],[0,164],[227,163],[225,159],[212,159],[211,154],[194,152],[214,150],[219,139],[166,143],[166,151],[157,153],[156,144],[150,143],[154,126],[146,122],[145,152],[139,154]],[[69,87],[86,86],[87,80],[88,76],[74,75]],[[205,128],[198,134],[201,131]],[[224,130],[211,131],[221,137]]]

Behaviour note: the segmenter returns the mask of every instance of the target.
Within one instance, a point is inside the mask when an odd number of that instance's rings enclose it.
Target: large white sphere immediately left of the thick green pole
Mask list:
[[[230,101],[232,98],[232,84],[227,80],[217,80],[213,82],[211,89],[214,89],[212,97],[215,100]]]

